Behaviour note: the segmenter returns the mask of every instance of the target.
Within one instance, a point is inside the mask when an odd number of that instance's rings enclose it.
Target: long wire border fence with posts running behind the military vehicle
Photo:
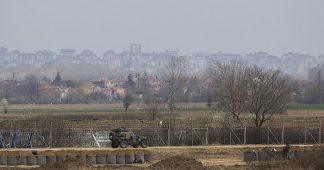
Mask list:
[[[321,144],[321,120],[269,121],[261,128],[253,124],[224,126],[219,119],[148,120],[10,120],[0,122],[2,143],[8,146],[13,133],[32,133],[33,147],[95,147],[96,134],[126,127],[147,136],[150,146],[208,144]],[[100,137],[98,137],[100,138]]]

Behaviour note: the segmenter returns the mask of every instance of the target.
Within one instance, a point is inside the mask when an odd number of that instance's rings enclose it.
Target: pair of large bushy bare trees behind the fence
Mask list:
[[[289,78],[276,70],[246,66],[239,62],[219,64],[215,84],[218,104],[241,122],[250,113],[256,127],[275,114],[287,111],[291,100]]]

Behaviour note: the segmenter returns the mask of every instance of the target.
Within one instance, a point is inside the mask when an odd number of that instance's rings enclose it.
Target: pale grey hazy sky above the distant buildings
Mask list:
[[[324,54],[324,0],[0,0],[0,46]]]

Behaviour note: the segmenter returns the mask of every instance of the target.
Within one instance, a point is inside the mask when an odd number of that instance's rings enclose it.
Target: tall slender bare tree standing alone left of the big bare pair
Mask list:
[[[168,105],[171,111],[175,111],[176,95],[181,91],[185,74],[186,61],[182,57],[168,57],[162,65],[161,74],[166,82],[168,93]]]

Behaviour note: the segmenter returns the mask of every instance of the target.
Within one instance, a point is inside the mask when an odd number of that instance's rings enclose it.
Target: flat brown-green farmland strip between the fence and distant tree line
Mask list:
[[[177,104],[178,118],[213,118],[220,111],[214,108],[206,107],[205,103],[179,103]],[[150,118],[143,103],[134,103],[130,106],[128,112],[124,111],[121,103],[103,103],[103,104],[15,104],[8,106],[8,113],[0,112],[0,118],[26,118],[37,116],[82,116],[95,115],[98,118],[111,119],[120,116],[131,118]],[[170,112],[166,104],[159,105],[159,117],[168,118]],[[275,116],[277,119],[309,119],[324,118],[324,107],[322,105],[300,105],[294,106],[286,114]]]

